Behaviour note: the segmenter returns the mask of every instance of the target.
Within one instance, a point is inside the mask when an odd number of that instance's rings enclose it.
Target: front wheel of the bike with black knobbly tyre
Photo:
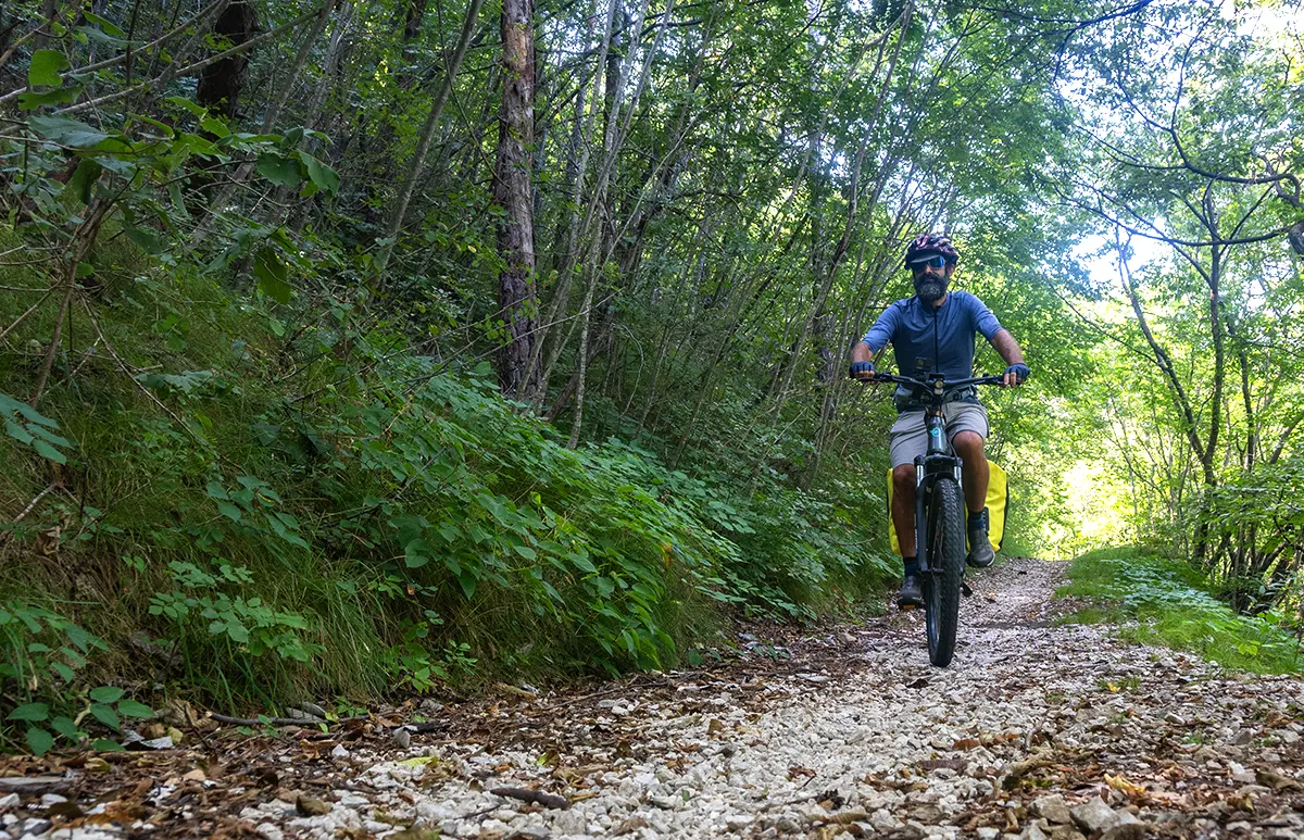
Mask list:
[[[965,574],[965,503],[960,485],[940,477],[928,500],[928,574],[923,580],[928,661],[951,664],[960,622],[960,587]]]

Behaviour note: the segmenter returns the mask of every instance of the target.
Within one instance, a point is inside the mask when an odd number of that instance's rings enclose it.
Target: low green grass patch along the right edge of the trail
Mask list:
[[[1296,637],[1279,616],[1241,616],[1219,601],[1198,571],[1137,548],[1098,549],[1069,567],[1056,597],[1088,599],[1067,621],[1115,623],[1124,639],[1200,653],[1252,673],[1304,669]]]

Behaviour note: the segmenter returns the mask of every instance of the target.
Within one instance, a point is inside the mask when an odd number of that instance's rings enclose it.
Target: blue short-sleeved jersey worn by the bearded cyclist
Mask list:
[[[1000,321],[969,292],[947,292],[940,307],[925,305],[918,295],[888,307],[865,343],[878,353],[888,343],[904,376],[939,370],[947,380],[966,380],[974,369],[974,335],[988,342],[1000,330]]]

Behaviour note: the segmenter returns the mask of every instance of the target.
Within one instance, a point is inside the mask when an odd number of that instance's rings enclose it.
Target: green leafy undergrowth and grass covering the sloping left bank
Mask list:
[[[0,355],[0,717],[73,715],[111,677],[261,711],[664,668],[729,616],[814,618],[892,573],[879,523],[617,440],[566,449],[488,365],[356,301],[99,260],[137,270],[74,312],[39,410],[50,316]],[[0,301],[9,323],[23,301]]]

